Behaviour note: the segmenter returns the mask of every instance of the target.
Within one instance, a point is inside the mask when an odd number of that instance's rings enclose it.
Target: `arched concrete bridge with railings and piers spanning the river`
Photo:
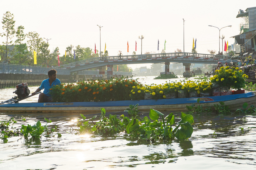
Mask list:
[[[70,72],[80,71],[91,68],[98,68],[99,74],[102,74],[107,66],[107,77],[113,75],[113,65],[122,64],[141,64],[141,63],[165,63],[165,72],[169,72],[170,63],[183,63],[185,66],[184,76],[189,76],[191,63],[217,64],[219,61],[225,62],[231,56],[219,56],[212,54],[199,53],[161,53],[161,54],[142,54],[128,56],[107,56],[94,57],[78,62],[62,65],[61,69],[68,69]]]

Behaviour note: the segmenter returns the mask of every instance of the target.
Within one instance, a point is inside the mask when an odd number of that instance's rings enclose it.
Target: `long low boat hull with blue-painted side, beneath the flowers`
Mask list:
[[[12,103],[1,104],[0,113],[12,112],[100,112],[100,108],[106,111],[124,111],[129,105],[139,104],[139,110],[149,110],[150,108],[158,111],[185,111],[186,105],[195,103],[197,106],[198,98],[177,98],[177,99],[158,99],[158,100],[130,100],[130,101],[106,101],[106,102],[59,102],[59,103]],[[242,108],[247,102],[248,106],[256,104],[256,95],[253,92],[227,96],[211,96],[200,98],[200,105],[204,108],[213,107],[214,104],[224,102],[230,110]]]

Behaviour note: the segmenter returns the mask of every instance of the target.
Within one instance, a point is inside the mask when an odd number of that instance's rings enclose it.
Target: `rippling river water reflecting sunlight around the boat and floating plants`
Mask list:
[[[162,84],[166,80],[139,77],[143,84]],[[178,79],[177,79],[178,80]],[[169,81],[169,80],[167,80]],[[173,80],[171,80],[173,81]],[[34,92],[37,87],[29,87]],[[0,101],[12,98],[15,89],[0,89]],[[25,102],[37,101],[33,96]],[[99,111],[100,113],[100,111]],[[116,113],[118,115],[125,112]],[[112,113],[113,114],[113,113]],[[144,113],[147,116],[148,113]],[[176,113],[176,116],[179,116]],[[92,114],[86,115],[87,118]],[[144,116],[144,115],[143,115]],[[44,117],[52,120],[49,128],[57,126],[60,138],[42,135],[0,141],[0,170],[108,170],[108,169],[202,169],[250,170],[256,168],[255,114],[193,115],[194,132],[189,140],[164,143],[138,143],[125,139],[125,134],[100,137],[79,135],[77,113],[2,113],[0,121],[14,117],[17,123],[9,126],[34,125]],[[26,119],[26,120],[24,120]],[[54,132],[53,134],[56,134]]]

